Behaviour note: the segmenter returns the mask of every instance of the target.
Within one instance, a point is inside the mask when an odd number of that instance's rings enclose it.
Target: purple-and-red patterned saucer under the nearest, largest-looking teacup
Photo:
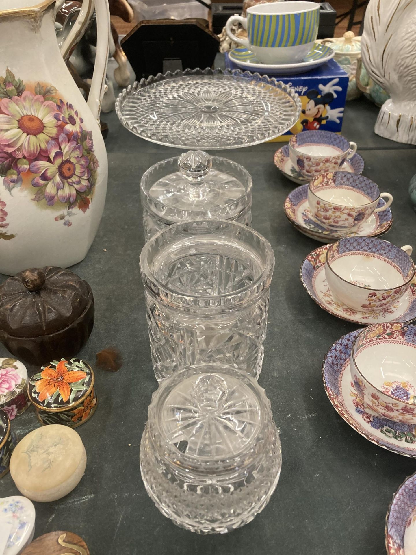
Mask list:
[[[398,455],[416,458],[416,426],[394,422],[364,409],[363,400],[354,389],[349,356],[360,331],[338,339],[323,360],[322,380],[329,401],[339,416],[368,441]]]

